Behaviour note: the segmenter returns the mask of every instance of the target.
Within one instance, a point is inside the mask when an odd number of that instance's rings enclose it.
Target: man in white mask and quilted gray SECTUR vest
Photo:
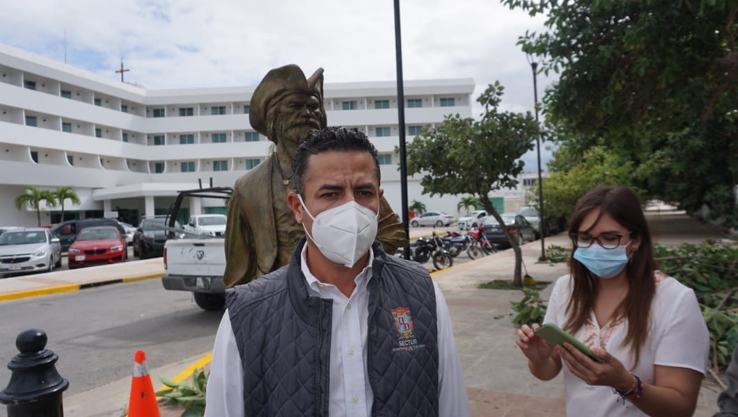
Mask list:
[[[288,265],[227,290],[205,416],[469,416],[441,290],[376,242],[374,146],[326,127],[293,167],[306,237]]]

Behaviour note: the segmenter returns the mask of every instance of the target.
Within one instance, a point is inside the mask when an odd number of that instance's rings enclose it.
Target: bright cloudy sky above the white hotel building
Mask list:
[[[396,80],[392,0],[0,0],[0,42],[149,89],[256,85],[296,63],[325,83]],[[476,99],[499,80],[503,110],[533,110],[531,67],[516,45],[542,18],[499,0],[401,0],[405,80],[471,77]],[[12,18],[10,18],[12,16]],[[66,41],[65,41],[66,38]],[[66,47],[65,47],[66,45]],[[65,52],[66,51],[66,52]],[[538,75],[538,96],[553,78]],[[481,108],[473,110],[473,116]],[[550,152],[542,149],[542,159]],[[527,170],[535,152],[525,155]]]

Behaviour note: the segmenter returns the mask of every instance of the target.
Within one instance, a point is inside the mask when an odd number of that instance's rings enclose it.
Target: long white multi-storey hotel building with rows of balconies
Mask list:
[[[233,186],[272,150],[249,125],[254,88],[147,90],[0,44],[0,225],[36,224],[35,211],[14,204],[27,185],[73,186],[82,202],[66,201],[67,218],[134,224],[166,214],[177,191],[199,181]],[[471,116],[474,88],[470,78],[406,81],[407,140],[448,113]],[[357,128],[379,150],[384,195],[399,213],[396,82],[326,83],[324,91],[328,125]],[[408,178],[408,202],[457,212],[461,196],[421,191],[419,178]],[[224,211],[220,200],[189,203],[185,214]],[[61,207],[42,210],[42,224],[60,221]]]

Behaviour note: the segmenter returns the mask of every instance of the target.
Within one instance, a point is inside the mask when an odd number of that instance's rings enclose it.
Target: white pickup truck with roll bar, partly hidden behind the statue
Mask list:
[[[166,273],[162,277],[162,285],[165,290],[193,292],[201,309],[219,310],[225,305],[225,239],[222,233],[214,236],[210,232],[193,233],[175,228],[177,213],[184,197],[227,200],[232,192],[227,187],[181,191],[168,214],[168,234],[164,244]]]

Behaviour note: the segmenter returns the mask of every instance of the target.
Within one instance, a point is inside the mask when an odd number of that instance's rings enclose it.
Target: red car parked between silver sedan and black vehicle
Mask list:
[[[83,228],[67,250],[69,269],[125,262],[125,236],[114,226]]]

